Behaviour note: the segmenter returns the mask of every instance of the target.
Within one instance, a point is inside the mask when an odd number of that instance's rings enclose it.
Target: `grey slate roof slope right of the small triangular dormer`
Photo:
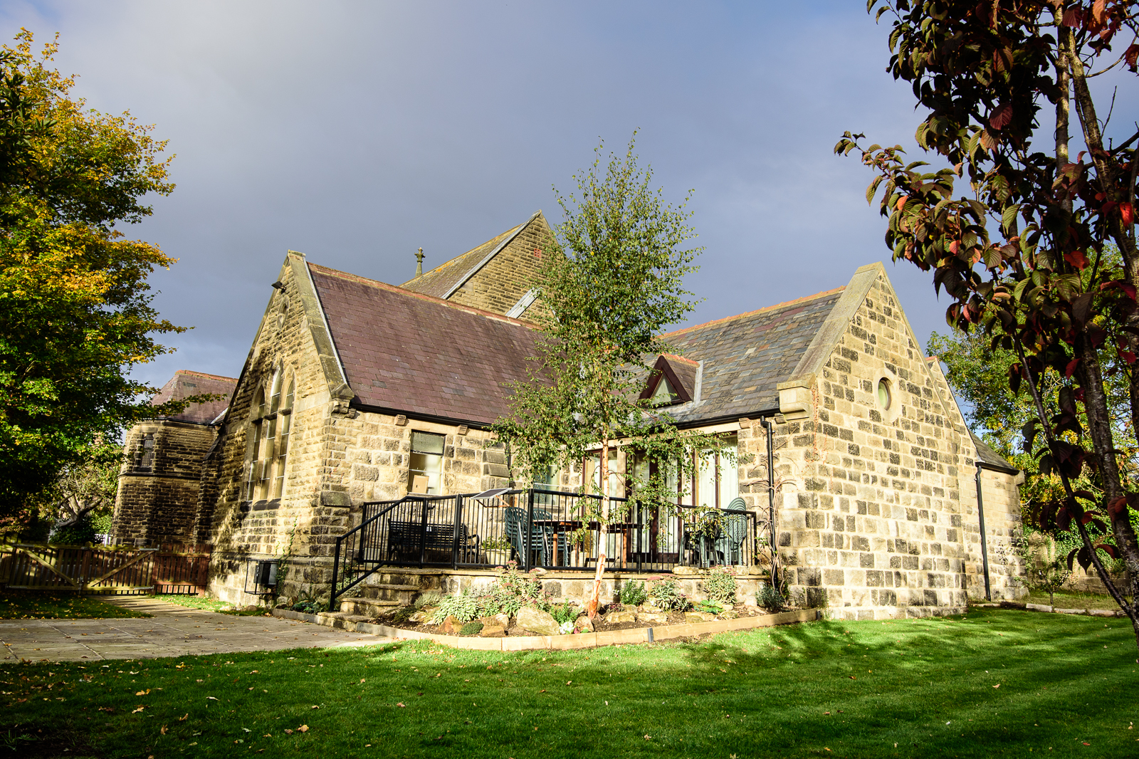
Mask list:
[[[844,287],[662,335],[703,362],[699,398],[669,409],[679,424],[779,408],[776,385],[795,370]]]

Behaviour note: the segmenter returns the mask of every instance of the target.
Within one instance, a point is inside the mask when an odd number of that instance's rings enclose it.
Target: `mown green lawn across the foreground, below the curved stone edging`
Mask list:
[[[0,668],[0,751],[7,735],[22,757],[1128,757],[1136,670],[1125,620],[1010,610],[575,652],[19,664]]]

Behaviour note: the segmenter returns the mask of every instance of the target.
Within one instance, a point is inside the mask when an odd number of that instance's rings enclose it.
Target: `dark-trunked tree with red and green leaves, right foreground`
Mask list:
[[[1114,134],[1089,82],[1113,70],[1137,73],[1137,2],[869,0],[867,8],[893,17],[888,71],[928,111],[918,145],[947,165],[924,170],[901,146],[863,148],[863,136],[850,132],[835,152],[858,152],[878,174],[867,199],[884,189],[886,244],[895,261],[933,272],[935,292],[952,299],[949,324],[1015,352],[1010,389],[1027,393],[1035,411],[1025,449],[1063,483],[1060,498],[1034,504],[1041,524],[1079,532],[1083,546],[1070,565],[1095,566],[1139,644],[1139,483],[1122,473],[1104,390],[1105,375],[1125,375],[1125,424],[1139,429],[1139,131],[1131,133],[1139,124]],[[1046,108],[1055,111],[1055,139],[1038,146]],[[1074,158],[1073,139],[1085,147]],[[968,194],[954,198],[966,177]],[[1108,244],[1122,270],[1101,266]],[[1055,403],[1041,393],[1049,373],[1062,381]],[[1073,489],[1081,474],[1098,493]],[[1093,544],[1091,523],[1114,545]],[[1112,581],[1100,552],[1123,558],[1125,583]]]

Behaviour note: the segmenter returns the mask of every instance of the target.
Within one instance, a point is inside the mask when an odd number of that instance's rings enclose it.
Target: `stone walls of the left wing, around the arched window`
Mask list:
[[[279,595],[327,594],[336,538],[359,523],[361,504],[407,495],[412,431],[445,435],[444,493],[501,487],[507,475],[506,455],[484,446],[485,432],[459,434],[458,426],[415,419],[400,425],[350,406],[353,393],[325,342],[304,266],[289,254],[203,475],[198,533],[214,544],[210,590],[236,603],[251,602],[245,576],[261,558],[287,557]],[[243,487],[253,462],[252,405],[278,366],[296,382],[284,491],[249,503]]]

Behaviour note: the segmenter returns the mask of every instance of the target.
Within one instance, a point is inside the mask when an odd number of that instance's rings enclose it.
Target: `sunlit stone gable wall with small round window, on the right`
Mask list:
[[[853,313],[841,305],[836,316],[849,323],[818,374],[780,385],[809,401],[776,438],[777,447],[789,438],[777,466],[788,577],[800,589],[820,588],[843,618],[962,611],[980,555],[966,537],[975,515],[972,440],[885,274]],[[888,408],[877,399],[880,379]]]

